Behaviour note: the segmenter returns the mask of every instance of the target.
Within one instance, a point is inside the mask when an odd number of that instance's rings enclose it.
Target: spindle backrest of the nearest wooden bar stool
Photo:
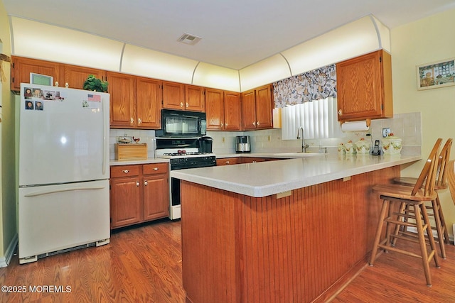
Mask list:
[[[422,169],[422,172],[420,172],[417,182],[412,189],[412,196],[415,196],[421,187],[424,189],[425,197],[433,194],[437,172],[437,155],[441,142],[442,139],[438,138],[433,146],[432,152],[429,153],[427,162],[425,162],[424,168]]]

